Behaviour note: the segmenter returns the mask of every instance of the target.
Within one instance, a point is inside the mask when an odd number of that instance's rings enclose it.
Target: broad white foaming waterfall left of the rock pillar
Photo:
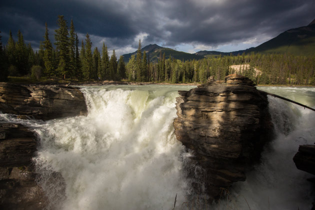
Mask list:
[[[86,87],[87,116],[38,129],[39,182],[54,208],[171,209],[176,193],[184,202],[183,146],[172,126],[178,88],[191,87]]]

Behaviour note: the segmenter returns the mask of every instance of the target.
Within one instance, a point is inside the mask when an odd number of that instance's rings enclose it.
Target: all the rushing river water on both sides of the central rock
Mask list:
[[[82,88],[86,116],[44,121],[0,114],[33,127],[40,139],[37,181],[55,209],[172,209],[191,200],[184,162],[189,153],[174,135],[177,90],[193,86],[105,85]],[[259,87],[315,107],[315,88]],[[310,174],[292,157],[315,142],[315,112],[269,97],[276,129],[262,161],[210,209],[310,209]],[[176,195],[177,194],[177,195]],[[190,196],[191,197],[191,196]],[[188,204],[188,202],[190,202]]]

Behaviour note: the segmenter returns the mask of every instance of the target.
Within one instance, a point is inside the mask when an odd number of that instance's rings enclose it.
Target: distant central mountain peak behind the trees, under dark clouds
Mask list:
[[[202,59],[204,56],[197,55],[197,54],[190,54],[187,52],[182,52],[182,51],[176,51],[171,48],[166,48],[166,47],[161,47],[157,44],[149,44],[144,46],[141,51],[143,52],[145,50],[146,56],[149,56],[150,62],[156,61],[160,54],[165,53],[165,58],[168,58],[169,56],[174,57],[175,59],[180,59],[180,60],[192,60],[192,59]],[[136,51],[128,54],[123,54],[123,60],[124,62],[128,62],[129,58],[131,55],[134,54],[136,55]]]

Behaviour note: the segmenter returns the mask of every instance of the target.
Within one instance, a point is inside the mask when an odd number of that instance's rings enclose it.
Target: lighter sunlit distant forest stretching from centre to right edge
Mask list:
[[[139,42],[140,47],[140,42]],[[142,61],[138,57],[142,56]],[[178,60],[160,54],[158,61],[145,63],[149,57],[138,49],[126,64],[129,80],[187,83],[205,82],[209,76],[222,80],[230,73],[238,73],[252,79],[256,84],[311,84],[315,85],[315,55],[292,54],[229,55],[208,57],[200,60]],[[237,69],[231,68],[239,65]]]

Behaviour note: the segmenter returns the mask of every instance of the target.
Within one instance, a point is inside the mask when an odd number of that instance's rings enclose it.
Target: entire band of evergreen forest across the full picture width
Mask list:
[[[315,55],[252,52],[200,60],[178,60],[160,53],[157,61],[149,62],[149,54],[141,51],[139,40],[136,55],[132,55],[125,65],[122,56],[117,62],[115,50],[109,57],[104,43],[100,51],[97,47],[92,50],[88,33],[79,47],[72,20],[68,28],[66,20],[59,15],[57,25],[55,47],[49,40],[47,24],[37,51],[30,44],[25,44],[20,31],[17,32],[17,41],[13,40],[9,32],[6,46],[2,46],[0,39],[0,80],[5,80],[8,75],[29,75],[34,79],[44,76],[79,81],[128,79],[138,82],[202,83],[209,76],[222,80],[226,75],[237,72],[256,84],[315,85]]]

